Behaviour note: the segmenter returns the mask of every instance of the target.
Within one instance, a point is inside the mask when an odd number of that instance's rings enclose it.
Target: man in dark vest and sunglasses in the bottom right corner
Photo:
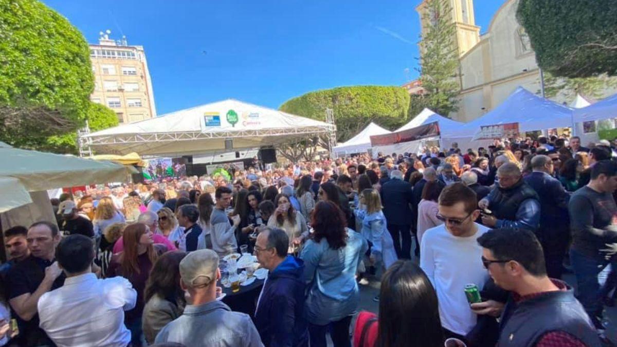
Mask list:
[[[482,263],[495,284],[511,292],[497,346],[601,346],[573,288],[547,277],[542,246],[534,233],[491,230],[478,243],[483,248]]]

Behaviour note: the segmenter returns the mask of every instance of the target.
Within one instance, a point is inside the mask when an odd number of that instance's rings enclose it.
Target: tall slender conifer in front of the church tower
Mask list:
[[[423,35],[420,41],[420,82],[426,94],[424,106],[449,117],[457,111],[458,53],[453,39],[456,28],[452,7],[447,0],[429,0],[423,13]]]

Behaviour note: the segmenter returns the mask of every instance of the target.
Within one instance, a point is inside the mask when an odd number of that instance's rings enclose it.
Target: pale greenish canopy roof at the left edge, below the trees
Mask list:
[[[28,151],[0,142],[0,212],[31,203],[30,191],[93,183],[122,182],[131,169],[112,162]]]

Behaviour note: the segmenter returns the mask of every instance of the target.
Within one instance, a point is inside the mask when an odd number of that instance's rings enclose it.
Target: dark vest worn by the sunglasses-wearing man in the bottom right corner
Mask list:
[[[566,332],[586,346],[600,346],[600,340],[574,290],[549,291],[520,303],[510,299],[503,309],[497,346],[535,346],[548,332]]]

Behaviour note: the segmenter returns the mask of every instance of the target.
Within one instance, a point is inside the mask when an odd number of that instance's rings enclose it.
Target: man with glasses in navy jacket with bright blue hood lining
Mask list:
[[[289,236],[284,230],[266,228],[257,236],[257,261],[268,269],[268,278],[255,310],[255,326],[266,347],[308,347],[304,319],[304,261],[287,254]]]

